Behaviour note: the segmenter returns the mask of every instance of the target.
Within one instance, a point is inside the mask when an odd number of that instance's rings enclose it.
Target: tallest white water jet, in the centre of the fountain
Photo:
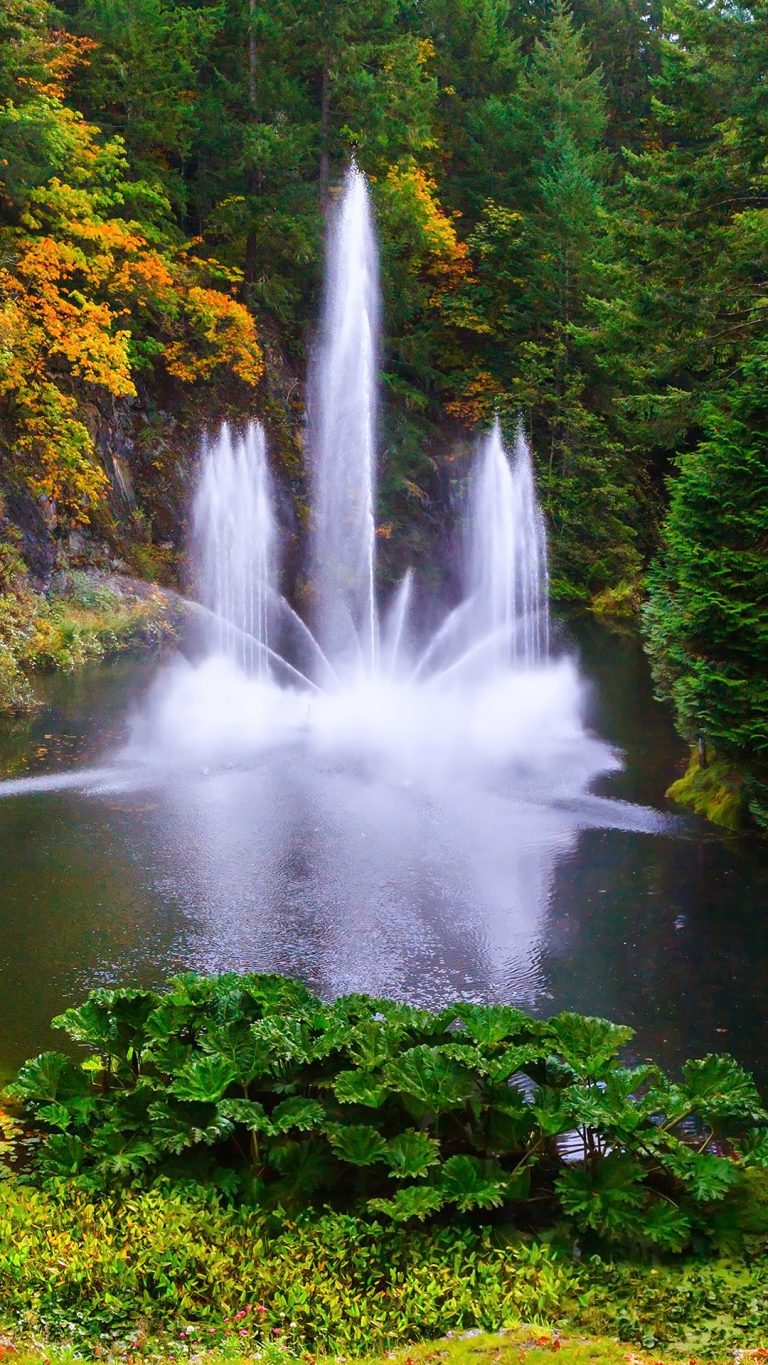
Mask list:
[[[311,580],[319,642],[334,659],[378,655],[375,601],[378,250],[366,179],[352,165],[331,224],[311,386]]]

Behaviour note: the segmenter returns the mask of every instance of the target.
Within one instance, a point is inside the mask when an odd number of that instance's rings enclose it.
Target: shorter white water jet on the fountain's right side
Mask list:
[[[501,426],[483,441],[469,485],[467,594],[472,637],[501,667],[536,667],[550,646],[547,534],[533,463],[518,429],[510,463]]]

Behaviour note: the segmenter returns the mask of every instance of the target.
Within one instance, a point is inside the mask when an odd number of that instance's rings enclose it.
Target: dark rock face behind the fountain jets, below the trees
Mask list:
[[[19,550],[31,586],[45,591],[53,575],[68,568],[128,573],[168,586],[183,581],[183,546],[202,438],[224,419],[239,426],[258,416],[276,474],[284,579],[289,594],[300,597],[306,590],[299,547],[307,517],[307,394],[296,362],[269,336],[265,356],[259,403],[251,410],[244,407],[240,386],[154,379],[139,381],[136,397],[128,400],[85,400],[80,412],[109,480],[108,495],[90,524],[65,526],[53,504],[4,480],[0,449],[0,500],[5,520],[20,534]],[[376,528],[382,581],[394,583],[404,560],[439,562],[449,575],[454,556],[443,513],[465,476],[472,445],[453,420],[426,423],[415,433],[401,429],[394,411],[385,418],[382,445],[390,472]]]

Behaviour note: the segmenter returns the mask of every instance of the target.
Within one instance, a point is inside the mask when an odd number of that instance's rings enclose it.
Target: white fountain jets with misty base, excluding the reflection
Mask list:
[[[584,733],[582,689],[548,657],[547,551],[531,452],[483,438],[462,509],[462,595],[431,639],[407,572],[375,594],[378,261],[366,182],[346,175],[329,236],[311,411],[312,625],[277,587],[277,523],[263,433],[206,450],[195,545],[210,657],[158,681],[135,753],[213,764],[291,745],[312,763],[363,758],[382,775],[513,778],[516,799],[570,799],[615,759]],[[278,636],[278,639],[276,639]],[[277,648],[276,648],[277,644]]]

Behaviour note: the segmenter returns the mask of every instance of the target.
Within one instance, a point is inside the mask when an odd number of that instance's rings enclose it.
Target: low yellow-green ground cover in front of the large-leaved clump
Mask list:
[[[296,1216],[210,1190],[0,1182],[0,1342],[240,1360],[392,1350],[516,1324],[724,1358],[768,1343],[765,1238],[656,1264],[509,1227]],[[539,1335],[539,1332],[536,1332]],[[45,1350],[48,1355],[48,1349]],[[658,1357],[656,1357],[658,1358]]]

